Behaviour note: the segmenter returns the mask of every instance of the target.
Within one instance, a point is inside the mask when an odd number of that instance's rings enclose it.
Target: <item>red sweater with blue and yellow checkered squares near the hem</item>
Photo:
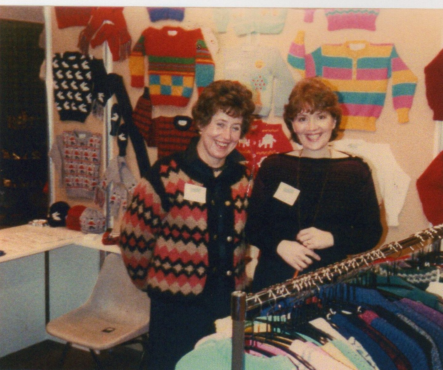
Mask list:
[[[214,61],[200,28],[165,26],[144,30],[129,56],[131,86],[144,87],[145,56],[153,105],[186,106],[214,80]]]

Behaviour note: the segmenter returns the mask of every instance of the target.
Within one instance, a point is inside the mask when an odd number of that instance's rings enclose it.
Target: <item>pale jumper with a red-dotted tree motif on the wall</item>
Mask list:
[[[294,78],[280,51],[262,45],[252,49],[244,45],[225,49],[223,55],[224,77],[239,81],[252,91],[256,106],[254,113],[268,116],[273,105],[274,115],[282,116],[294,87]]]

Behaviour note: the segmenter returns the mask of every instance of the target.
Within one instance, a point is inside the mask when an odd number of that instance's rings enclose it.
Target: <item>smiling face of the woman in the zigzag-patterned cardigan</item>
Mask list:
[[[219,109],[208,125],[201,128],[197,152],[210,167],[220,167],[237,146],[241,136],[242,117],[231,117]]]

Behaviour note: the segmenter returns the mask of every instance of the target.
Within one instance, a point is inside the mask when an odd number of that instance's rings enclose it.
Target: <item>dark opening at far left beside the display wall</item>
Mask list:
[[[39,77],[43,23],[0,19],[0,226],[46,218],[46,87]]]

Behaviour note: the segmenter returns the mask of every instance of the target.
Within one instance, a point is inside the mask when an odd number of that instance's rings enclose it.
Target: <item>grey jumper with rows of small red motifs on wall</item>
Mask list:
[[[67,196],[94,199],[100,176],[101,134],[64,131],[56,136],[49,155],[61,173]]]

